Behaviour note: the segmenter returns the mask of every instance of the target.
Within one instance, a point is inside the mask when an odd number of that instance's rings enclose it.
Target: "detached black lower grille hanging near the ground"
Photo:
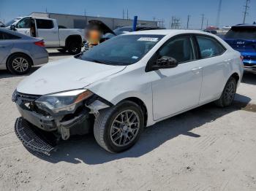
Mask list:
[[[50,139],[46,138],[45,135],[39,133],[37,129],[34,129],[33,125],[27,122],[23,117],[19,117],[16,120],[15,133],[25,147],[35,152],[48,154],[56,146],[56,140],[54,142],[52,137],[50,137]]]

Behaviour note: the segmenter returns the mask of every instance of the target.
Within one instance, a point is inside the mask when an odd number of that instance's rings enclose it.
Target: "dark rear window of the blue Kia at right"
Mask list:
[[[225,39],[256,39],[256,28],[233,27],[227,32]]]

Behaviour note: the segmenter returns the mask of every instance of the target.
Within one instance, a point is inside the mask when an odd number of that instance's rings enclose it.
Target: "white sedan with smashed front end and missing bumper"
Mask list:
[[[212,101],[232,104],[241,59],[222,39],[200,31],[116,36],[20,82],[12,95],[21,114],[15,133],[29,149],[48,153],[91,130],[101,147],[122,152],[145,126]]]

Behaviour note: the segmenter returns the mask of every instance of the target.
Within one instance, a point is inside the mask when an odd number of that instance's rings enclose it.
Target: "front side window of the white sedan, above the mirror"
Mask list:
[[[158,51],[159,58],[167,56],[175,58],[178,63],[195,60],[192,47],[192,39],[189,36],[181,36],[171,39],[165,43]]]

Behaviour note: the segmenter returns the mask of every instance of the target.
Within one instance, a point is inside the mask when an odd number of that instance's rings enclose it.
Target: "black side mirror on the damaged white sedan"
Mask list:
[[[158,58],[157,63],[151,67],[152,67],[152,70],[158,70],[158,69],[171,69],[171,68],[175,68],[176,66],[178,66],[178,61],[176,61],[175,58],[162,56],[161,58]]]

